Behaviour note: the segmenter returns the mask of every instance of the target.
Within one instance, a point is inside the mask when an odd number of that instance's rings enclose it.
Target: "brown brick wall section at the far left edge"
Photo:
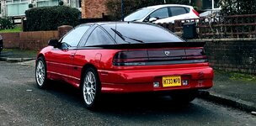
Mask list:
[[[19,48],[19,33],[3,33],[3,48]]]

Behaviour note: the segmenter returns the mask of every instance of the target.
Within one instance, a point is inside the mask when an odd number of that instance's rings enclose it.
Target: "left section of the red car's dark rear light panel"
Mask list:
[[[114,66],[145,66],[148,61],[147,50],[120,51],[113,59]]]

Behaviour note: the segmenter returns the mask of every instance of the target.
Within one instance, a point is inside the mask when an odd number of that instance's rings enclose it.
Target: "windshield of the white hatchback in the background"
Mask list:
[[[152,12],[152,8],[141,8],[137,10],[135,13],[131,13],[127,17],[125,17],[125,21],[136,21],[141,18],[147,16],[148,13]]]

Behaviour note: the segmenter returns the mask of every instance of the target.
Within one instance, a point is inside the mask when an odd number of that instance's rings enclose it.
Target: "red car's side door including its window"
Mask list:
[[[74,79],[72,76],[73,58],[77,52],[77,45],[88,28],[88,25],[83,25],[72,29],[61,39],[61,45],[49,52],[47,66],[53,78],[67,82]]]

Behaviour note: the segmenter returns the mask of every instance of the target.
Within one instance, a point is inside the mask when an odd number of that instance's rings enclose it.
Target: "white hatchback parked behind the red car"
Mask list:
[[[174,23],[177,19],[199,18],[199,13],[192,6],[164,4],[138,9],[125,17],[125,21]]]

